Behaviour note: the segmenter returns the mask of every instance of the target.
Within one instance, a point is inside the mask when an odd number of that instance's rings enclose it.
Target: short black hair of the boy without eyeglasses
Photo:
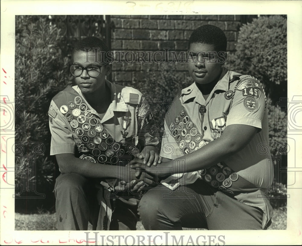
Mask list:
[[[202,25],[195,29],[189,38],[189,48],[191,43],[203,43],[214,45],[215,51],[226,51],[226,35],[218,27],[213,25]]]

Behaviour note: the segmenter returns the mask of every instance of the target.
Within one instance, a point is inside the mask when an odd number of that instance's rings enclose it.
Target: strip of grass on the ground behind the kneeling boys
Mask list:
[[[274,209],[271,226],[268,230],[285,230],[287,221],[287,208],[280,207]],[[88,229],[92,229],[89,225]],[[15,213],[15,230],[16,231],[48,231],[56,230],[56,216],[55,214],[20,214]],[[142,223],[137,223],[137,230],[144,230]],[[200,230],[192,228],[184,228],[184,230]]]

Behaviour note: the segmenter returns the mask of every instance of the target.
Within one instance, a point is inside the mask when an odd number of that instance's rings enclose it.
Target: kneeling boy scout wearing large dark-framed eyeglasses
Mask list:
[[[134,156],[147,165],[159,159],[152,123],[145,120],[152,112],[138,90],[105,79],[111,72],[107,54],[100,39],[82,39],[70,65],[76,86],[59,92],[48,111],[50,154],[61,172],[55,184],[58,230],[87,230],[88,221],[94,230],[135,230],[137,200],[117,191],[140,192],[153,184],[125,167]]]

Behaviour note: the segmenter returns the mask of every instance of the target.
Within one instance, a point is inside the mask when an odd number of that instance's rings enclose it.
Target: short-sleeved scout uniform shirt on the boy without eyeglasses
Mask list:
[[[176,174],[172,178],[178,179],[179,185],[204,179],[217,191],[227,192],[247,205],[259,207],[264,212],[262,228],[272,215],[266,192],[272,182],[273,167],[271,159],[266,157],[269,153],[262,153],[262,148],[269,148],[265,109],[266,97],[258,80],[223,68],[207,100],[195,83],[175,97],[165,117],[165,137],[160,152],[162,157],[176,159],[214,141],[228,125],[244,124],[258,128],[246,147],[223,162],[184,176]],[[174,189],[175,184],[171,185],[169,179],[162,183]]]

